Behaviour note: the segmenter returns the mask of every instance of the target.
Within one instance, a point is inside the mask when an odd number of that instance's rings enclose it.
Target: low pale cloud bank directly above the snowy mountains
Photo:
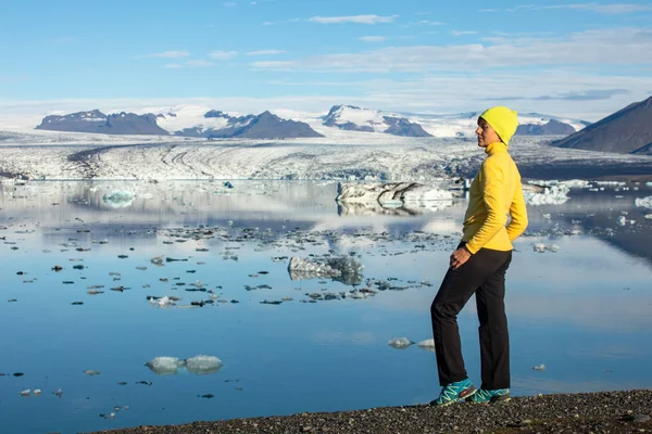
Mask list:
[[[627,75],[604,76],[598,72],[582,74],[566,69],[537,69],[517,74],[506,69],[501,72],[480,71],[430,74],[413,79],[371,79],[359,81],[331,82],[303,81],[281,82],[286,88],[283,97],[269,98],[160,98],[160,99],[84,99],[12,101],[0,100],[0,114],[29,117],[29,125],[37,125],[47,112],[72,113],[79,107],[93,107],[104,113],[120,110],[138,112],[139,107],[173,106],[198,104],[222,107],[229,113],[261,113],[265,110],[294,110],[310,113],[325,113],[335,104],[353,104],[388,111],[413,113],[463,113],[482,110],[496,103],[513,106],[519,113],[546,113],[586,120],[598,120],[635,101],[649,98],[652,89],[652,75],[632,79]],[[288,87],[292,86],[293,87]],[[323,87],[329,86],[327,92]],[[303,88],[302,88],[303,87]],[[297,89],[296,94],[292,89]],[[610,89],[626,89],[626,92],[609,92]],[[567,98],[568,94],[595,93],[603,90],[612,97],[597,101],[587,100],[542,100],[540,97]],[[505,98],[514,97],[514,100]],[[27,124],[26,124],[27,125]]]

